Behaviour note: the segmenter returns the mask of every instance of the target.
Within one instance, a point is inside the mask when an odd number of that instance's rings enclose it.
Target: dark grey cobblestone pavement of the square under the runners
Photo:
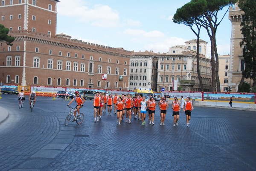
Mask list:
[[[67,101],[37,97],[31,112],[28,100],[19,109],[15,95],[1,97],[9,111],[0,124],[1,171],[256,170],[255,111],[195,106],[187,128],[184,112],[173,126],[169,108],[163,126],[158,110],[154,126],[134,119],[118,125],[108,113],[94,123],[86,100],[84,122],[65,126]]]

